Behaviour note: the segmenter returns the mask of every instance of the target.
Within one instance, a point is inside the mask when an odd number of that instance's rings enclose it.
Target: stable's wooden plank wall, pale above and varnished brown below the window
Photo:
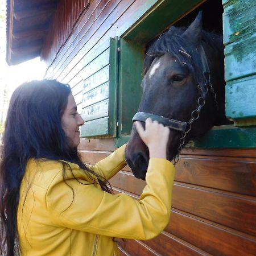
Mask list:
[[[110,37],[121,36],[137,21],[136,13],[146,13],[157,1],[148,1],[147,7],[142,0],[94,0],[81,15],[79,1],[72,6],[68,2],[59,2],[42,58],[49,65],[47,77],[71,84],[81,110],[82,85],[76,78],[83,58]],[[114,149],[113,138],[81,139],[79,146],[88,164]],[[115,193],[135,199],[145,185],[129,167],[110,182]],[[176,166],[172,213],[164,232],[150,241],[119,241],[119,246],[121,255],[255,255],[255,149],[185,148]]]

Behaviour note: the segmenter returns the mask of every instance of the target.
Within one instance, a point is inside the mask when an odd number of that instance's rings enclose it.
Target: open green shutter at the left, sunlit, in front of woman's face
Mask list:
[[[110,38],[88,56],[84,68],[81,136],[115,137],[117,131],[118,39]]]

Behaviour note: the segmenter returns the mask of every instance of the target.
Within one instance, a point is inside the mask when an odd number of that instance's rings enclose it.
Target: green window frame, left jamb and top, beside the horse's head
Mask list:
[[[141,81],[144,69],[144,46],[184,13],[202,0],[144,1],[131,20],[135,23],[120,39],[118,86],[118,136],[131,133],[133,115],[141,101]],[[129,21],[127,22],[130,22]],[[126,24],[125,24],[126,25]]]

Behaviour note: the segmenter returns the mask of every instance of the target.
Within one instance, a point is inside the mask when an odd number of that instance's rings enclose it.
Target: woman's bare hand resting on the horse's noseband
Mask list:
[[[145,122],[145,129],[140,122],[135,123],[136,130],[142,141],[148,147],[150,158],[166,158],[167,143],[169,139],[170,130],[164,127],[157,121],[152,121],[147,118]]]

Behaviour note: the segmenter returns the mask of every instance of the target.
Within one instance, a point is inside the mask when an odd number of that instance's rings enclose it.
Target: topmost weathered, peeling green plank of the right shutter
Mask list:
[[[224,44],[241,41],[256,32],[256,2],[254,0],[229,0],[222,1],[222,3],[224,5]]]

